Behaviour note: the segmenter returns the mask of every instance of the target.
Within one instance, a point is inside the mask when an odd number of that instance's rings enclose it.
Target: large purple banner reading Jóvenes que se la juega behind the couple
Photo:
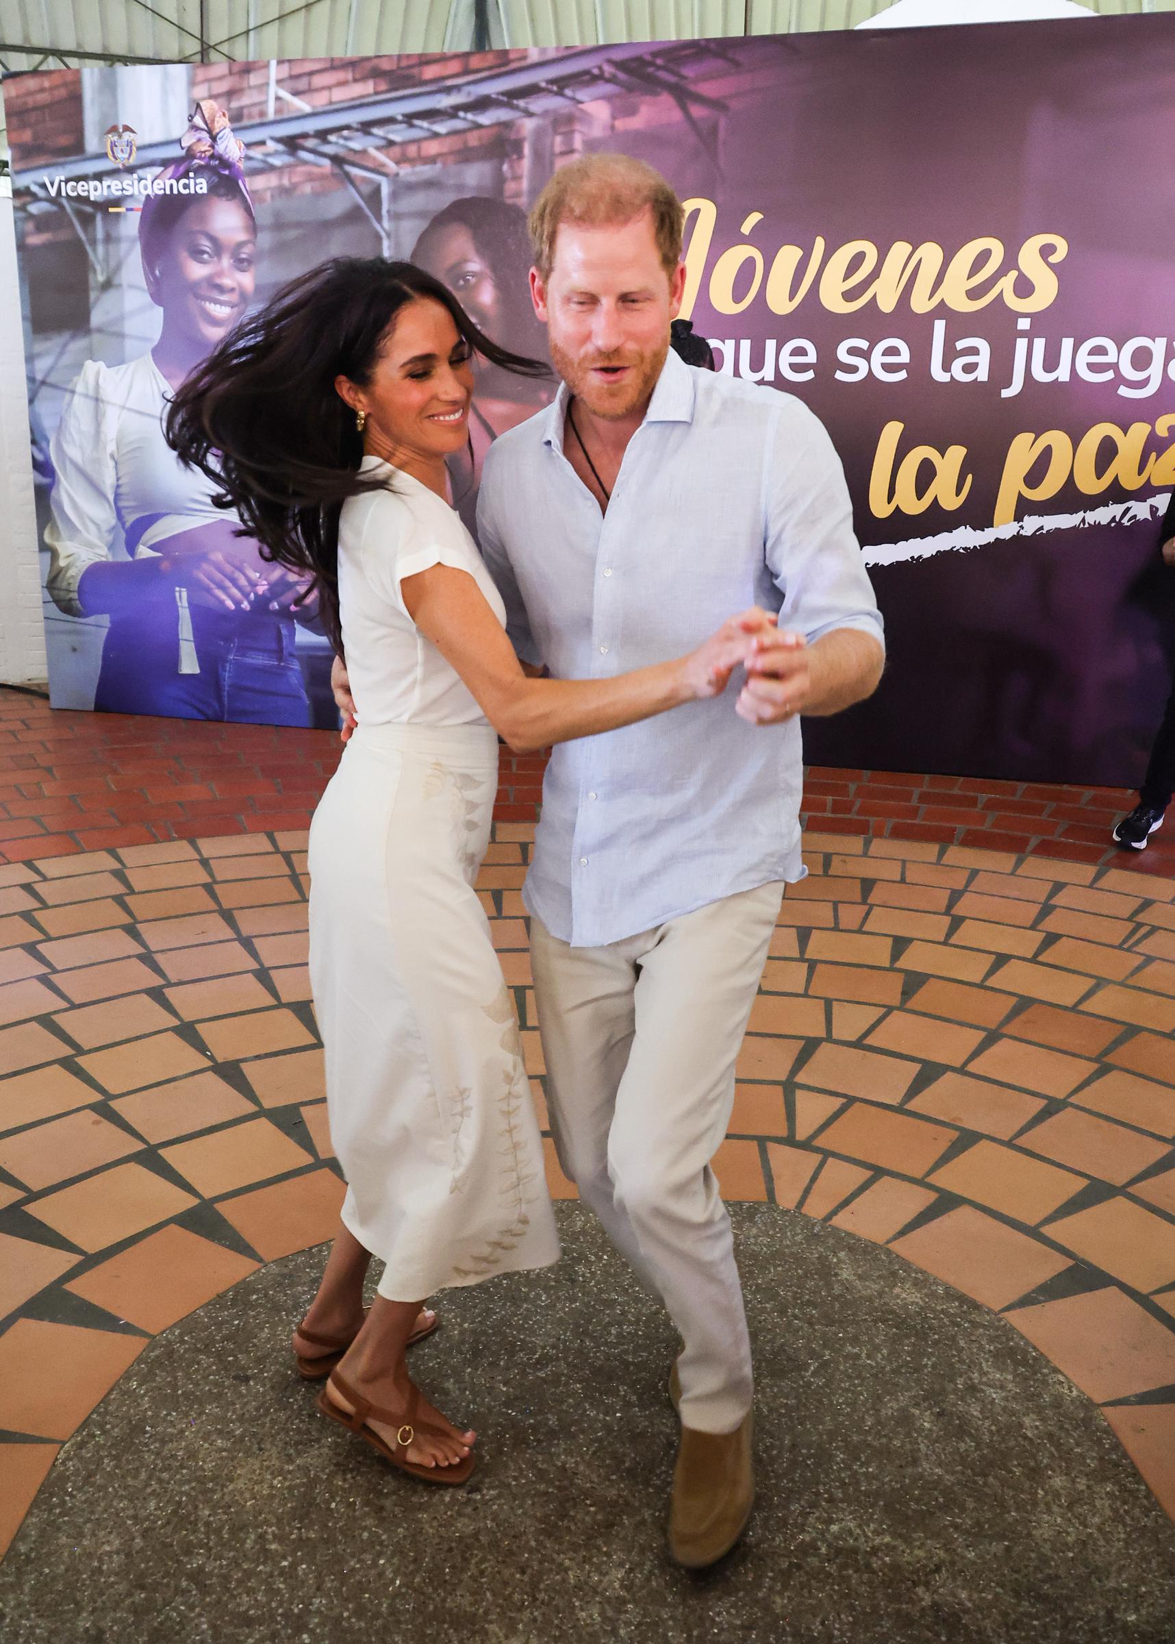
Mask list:
[[[5,102],[54,702],[334,723],[312,608],[209,592],[223,521],[166,470],[168,383],[350,252],[416,256],[532,353],[524,210],[623,150],[689,202],[718,368],[804,398],[845,462],[889,667],[809,758],[1139,781],[1175,656],[1175,18],[97,69]],[[250,240],[219,294],[184,242],[214,179]],[[539,403],[478,378],[465,513]]]

